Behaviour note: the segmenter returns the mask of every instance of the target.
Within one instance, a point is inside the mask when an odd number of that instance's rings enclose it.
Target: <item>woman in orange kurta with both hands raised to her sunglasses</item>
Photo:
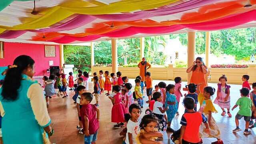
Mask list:
[[[206,87],[205,74],[208,73],[208,68],[204,65],[204,62],[201,57],[197,57],[196,61],[193,62],[193,65],[188,67],[187,73],[192,71],[190,83],[195,83],[198,85],[200,92],[204,91]],[[197,91],[197,93],[199,93]]]

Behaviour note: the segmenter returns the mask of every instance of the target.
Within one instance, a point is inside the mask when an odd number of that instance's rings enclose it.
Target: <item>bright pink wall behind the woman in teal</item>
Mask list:
[[[45,57],[43,44],[4,42],[4,59],[0,59],[0,66],[12,65],[19,55],[29,55],[35,61],[35,76],[43,75],[43,71],[49,69],[49,61],[60,65],[59,45],[56,45],[55,49],[56,57]]]

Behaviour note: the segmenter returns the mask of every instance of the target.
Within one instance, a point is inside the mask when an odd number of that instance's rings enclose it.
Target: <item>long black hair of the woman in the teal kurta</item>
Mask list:
[[[15,101],[18,98],[18,89],[22,80],[22,72],[28,67],[33,67],[35,61],[28,55],[20,55],[14,59],[12,67],[8,69],[2,85],[2,93],[4,100]]]

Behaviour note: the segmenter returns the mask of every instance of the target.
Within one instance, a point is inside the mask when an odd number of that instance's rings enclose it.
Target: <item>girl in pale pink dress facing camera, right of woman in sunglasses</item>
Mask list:
[[[218,83],[218,91],[217,91],[217,97],[214,101],[215,104],[219,105],[222,109],[221,115],[224,116],[226,114],[226,111],[224,108],[227,108],[228,111],[228,117],[231,117],[232,115],[229,112],[230,109],[230,85],[227,85],[227,77],[225,75],[222,75],[222,77],[219,78],[220,83]]]

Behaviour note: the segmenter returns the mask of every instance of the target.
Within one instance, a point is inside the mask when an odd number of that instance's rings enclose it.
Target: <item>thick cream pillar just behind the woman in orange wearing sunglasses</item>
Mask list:
[[[196,53],[196,32],[188,32],[188,67],[195,61]],[[188,73],[188,83],[192,73]]]

